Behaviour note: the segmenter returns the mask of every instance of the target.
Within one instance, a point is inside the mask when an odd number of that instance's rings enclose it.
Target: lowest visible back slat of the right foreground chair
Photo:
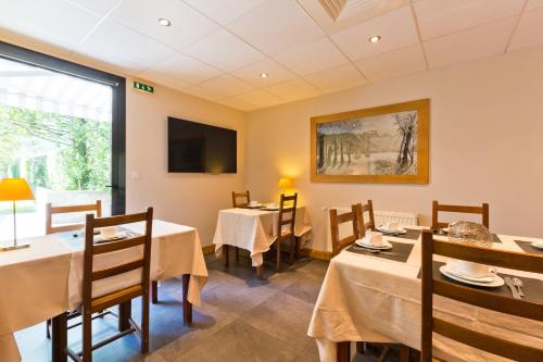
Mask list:
[[[514,361],[543,361],[543,349],[519,345],[506,339],[481,334],[440,319],[433,319],[433,332],[480,350]]]

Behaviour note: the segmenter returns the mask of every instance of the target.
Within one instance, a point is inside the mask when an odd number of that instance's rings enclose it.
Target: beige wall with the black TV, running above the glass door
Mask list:
[[[141,93],[130,88],[132,78],[117,68],[74,58],[62,49],[17,35],[5,34],[0,40],[125,76],[127,211],[152,205],[155,217],[194,226],[200,230],[202,244],[213,241],[218,210],[230,207],[230,192],[244,187],[247,116],[243,112],[162,86],[155,86],[154,95]],[[168,174],[168,115],[238,130],[238,173],[217,176]],[[132,172],[139,173],[139,178],[132,179]]]

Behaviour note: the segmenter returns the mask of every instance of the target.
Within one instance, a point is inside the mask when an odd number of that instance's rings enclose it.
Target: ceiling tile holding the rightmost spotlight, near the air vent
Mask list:
[[[369,37],[381,36],[379,42],[371,43]],[[343,52],[355,61],[418,42],[417,29],[409,7],[403,7],[382,16],[331,35]]]

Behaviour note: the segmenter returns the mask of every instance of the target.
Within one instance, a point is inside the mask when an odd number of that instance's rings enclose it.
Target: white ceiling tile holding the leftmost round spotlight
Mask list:
[[[172,21],[172,26],[160,25],[157,20],[161,17]],[[123,1],[110,18],[177,50],[218,28],[213,21],[179,0]]]

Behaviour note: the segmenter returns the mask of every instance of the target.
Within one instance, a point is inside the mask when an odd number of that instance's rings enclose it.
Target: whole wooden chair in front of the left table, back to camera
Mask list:
[[[93,232],[96,228],[118,226],[124,224],[146,222],[146,234],[131,236],[126,239],[94,244]],[[148,208],[147,212],[139,214],[111,216],[94,219],[88,214],[85,234],[84,274],[83,274],[83,351],[76,353],[68,349],[68,355],[75,361],[91,362],[92,350],[103,347],[125,335],[138,332],[141,337],[141,353],[149,351],[149,278],[151,264],[151,235],[153,224],[153,209]],[[118,264],[105,270],[96,271],[93,262],[96,255],[116,252],[134,247],[142,247],[141,259],[128,263]],[[141,270],[141,280],[135,285],[109,292],[105,296],[93,297],[93,282],[102,280],[116,275]],[[141,297],[141,327],[137,326],[130,317],[131,300]],[[109,337],[96,345],[92,345],[92,314],[106,310],[111,307],[119,305],[118,329],[119,333]]]

